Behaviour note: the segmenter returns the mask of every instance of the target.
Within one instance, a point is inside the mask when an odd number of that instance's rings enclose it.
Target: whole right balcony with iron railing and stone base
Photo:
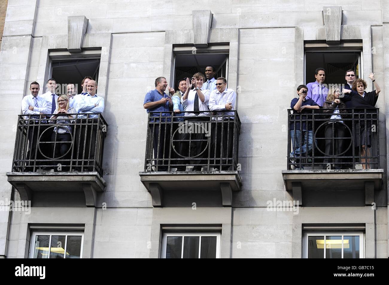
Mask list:
[[[301,116],[288,110],[287,170],[282,177],[300,205],[303,196],[310,199],[305,206],[371,205],[381,189],[379,109],[345,110],[337,119],[326,109]],[[314,197],[319,201],[313,202]]]

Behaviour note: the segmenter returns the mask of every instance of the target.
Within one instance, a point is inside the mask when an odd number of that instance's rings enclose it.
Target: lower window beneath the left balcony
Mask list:
[[[82,258],[84,234],[79,232],[33,232],[30,258]]]

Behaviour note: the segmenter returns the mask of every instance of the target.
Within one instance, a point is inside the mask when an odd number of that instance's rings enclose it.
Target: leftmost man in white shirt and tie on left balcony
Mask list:
[[[46,100],[42,96],[38,96],[39,93],[39,83],[36,81],[32,82],[30,84],[30,91],[31,95],[26,95],[23,97],[22,100],[22,114],[23,115],[36,115],[31,116],[31,119],[37,119],[37,120],[31,120],[26,121],[26,123],[29,123],[26,128],[28,128],[28,152],[26,159],[27,160],[34,160],[35,159],[35,151],[37,148],[37,138],[39,136],[39,115],[44,114],[46,112]],[[29,116],[25,116],[25,119],[28,120]],[[45,121],[42,121],[41,123],[46,123]],[[44,128],[41,127],[40,133],[42,133],[42,130]],[[37,151],[37,157],[36,159],[42,159],[42,155],[40,154],[39,150]],[[26,165],[33,165],[33,161],[27,162]],[[29,167],[26,170],[32,171],[33,168]]]

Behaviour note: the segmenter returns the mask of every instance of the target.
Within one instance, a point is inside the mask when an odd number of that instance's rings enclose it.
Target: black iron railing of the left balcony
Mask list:
[[[67,122],[49,119],[47,114],[19,115],[12,171],[97,171],[102,175],[107,123],[101,114],[70,115],[74,118]]]

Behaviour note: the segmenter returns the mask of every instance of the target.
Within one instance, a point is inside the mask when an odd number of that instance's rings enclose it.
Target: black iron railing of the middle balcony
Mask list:
[[[229,112],[149,113],[144,171],[237,170],[240,120]]]

